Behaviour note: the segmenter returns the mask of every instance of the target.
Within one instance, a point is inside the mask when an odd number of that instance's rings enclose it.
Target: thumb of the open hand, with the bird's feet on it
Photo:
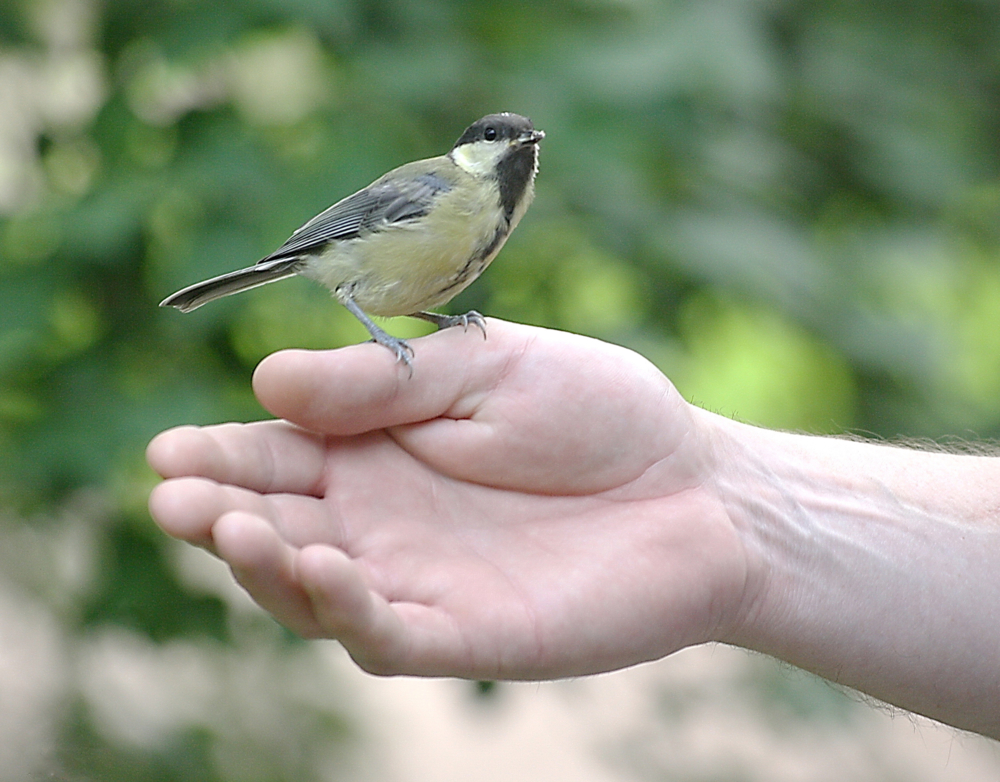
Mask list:
[[[522,326],[487,320],[489,339],[445,329],[414,340],[413,376],[376,360],[378,345],[286,350],[254,372],[254,391],[274,415],[315,432],[351,435],[437,416],[466,417],[529,339]]]

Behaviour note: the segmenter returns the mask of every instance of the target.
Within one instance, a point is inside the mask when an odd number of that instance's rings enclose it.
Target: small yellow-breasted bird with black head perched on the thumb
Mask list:
[[[468,286],[500,252],[534,198],[544,137],[527,117],[489,114],[448,154],[393,169],[320,212],[254,266],[191,285],[160,306],[190,312],[301,274],[329,288],[407,367],[413,348],[369,315],[409,315],[439,329],[471,323],[485,336],[478,312],[428,310]]]

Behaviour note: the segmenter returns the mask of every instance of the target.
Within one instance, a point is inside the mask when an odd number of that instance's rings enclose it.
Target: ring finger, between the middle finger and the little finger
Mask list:
[[[295,577],[296,549],[270,524],[248,513],[228,513],[215,523],[212,537],[219,556],[261,608],[304,638],[323,634]]]

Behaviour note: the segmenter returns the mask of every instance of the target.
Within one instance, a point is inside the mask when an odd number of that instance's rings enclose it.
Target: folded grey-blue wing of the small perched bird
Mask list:
[[[422,217],[441,193],[452,188],[439,173],[407,175],[406,168],[386,174],[320,212],[259,263],[303,255],[331,241],[352,239],[379,226]]]

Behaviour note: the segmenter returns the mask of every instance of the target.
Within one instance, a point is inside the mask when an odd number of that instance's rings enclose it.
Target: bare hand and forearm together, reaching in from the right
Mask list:
[[[545,679],[721,641],[1000,736],[997,461],[687,404],[587,338],[488,322],[284,351],[279,419],[150,443],[150,510],[377,674]]]

